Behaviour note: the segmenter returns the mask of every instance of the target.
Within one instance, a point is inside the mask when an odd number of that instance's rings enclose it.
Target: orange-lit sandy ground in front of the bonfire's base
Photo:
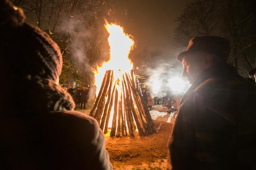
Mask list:
[[[78,110],[89,114],[90,110]],[[165,115],[164,115],[165,114]],[[153,120],[157,133],[140,137],[109,137],[105,135],[105,147],[114,169],[166,169],[167,142],[175,118],[167,122],[171,114],[164,113]],[[175,116],[174,116],[175,117]],[[170,118],[169,118],[170,120]]]

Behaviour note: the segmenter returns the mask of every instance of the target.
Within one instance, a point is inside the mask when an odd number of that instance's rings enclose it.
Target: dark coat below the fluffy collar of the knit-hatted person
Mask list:
[[[0,169],[111,169],[94,118],[75,111],[21,114],[1,115]]]

